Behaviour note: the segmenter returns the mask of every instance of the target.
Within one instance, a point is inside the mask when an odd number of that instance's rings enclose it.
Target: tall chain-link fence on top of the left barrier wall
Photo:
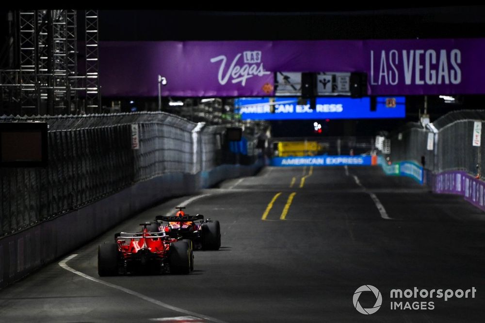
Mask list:
[[[193,142],[197,124],[166,113],[0,117],[0,122],[27,120],[49,124],[49,166],[0,169],[0,235],[154,176],[191,172],[194,154],[200,155]],[[139,129],[137,150],[132,149],[132,124]],[[214,151],[202,157],[207,168],[215,165]]]

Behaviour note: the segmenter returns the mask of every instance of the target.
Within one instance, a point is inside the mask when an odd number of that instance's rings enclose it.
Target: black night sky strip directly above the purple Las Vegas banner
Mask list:
[[[458,38],[485,35],[485,6],[326,11],[102,10],[104,40]]]

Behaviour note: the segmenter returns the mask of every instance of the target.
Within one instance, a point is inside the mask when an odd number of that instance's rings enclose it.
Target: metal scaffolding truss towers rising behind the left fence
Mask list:
[[[78,75],[76,10],[20,10],[13,20],[14,41],[7,45],[16,50],[2,55],[15,52],[17,59],[0,70],[0,115],[99,113],[97,11],[86,11],[84,76]]]

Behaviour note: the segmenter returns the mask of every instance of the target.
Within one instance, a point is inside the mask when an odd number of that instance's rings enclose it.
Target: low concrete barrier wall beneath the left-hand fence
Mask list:
[[[0,288],[75,250],[163,199],[190,195],[220,181],[255,174],[263,163],[221,165],[197,174],[172,173],[139,182],[105,199],[0,239]]]

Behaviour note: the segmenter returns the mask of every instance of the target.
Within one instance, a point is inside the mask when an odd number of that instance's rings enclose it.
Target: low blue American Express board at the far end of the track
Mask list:
[[[372,156],[274,157],[271,166],[370,166]]]

